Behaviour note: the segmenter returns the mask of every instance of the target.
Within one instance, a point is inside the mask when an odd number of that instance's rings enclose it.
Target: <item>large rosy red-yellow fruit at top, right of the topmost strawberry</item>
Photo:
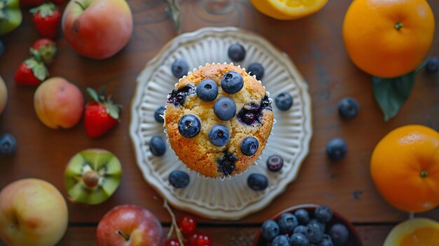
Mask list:
[[[133,16],[125,0],[69,1],[62,15],[62,32],[79,54],[93,59],[111,57],[133,33]]]

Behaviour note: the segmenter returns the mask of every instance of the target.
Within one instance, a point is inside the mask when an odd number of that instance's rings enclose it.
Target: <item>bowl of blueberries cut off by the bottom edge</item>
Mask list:
[[[290,207],[264,221],[253,246],[363,246],[349,220],[325,205]]]

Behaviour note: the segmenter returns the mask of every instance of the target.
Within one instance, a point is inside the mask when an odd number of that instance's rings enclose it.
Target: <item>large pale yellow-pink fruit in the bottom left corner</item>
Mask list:
[[[60,191],[41,179],[20,179],[0,192],[0,238],[6,245],[56,245],[69,221]]]

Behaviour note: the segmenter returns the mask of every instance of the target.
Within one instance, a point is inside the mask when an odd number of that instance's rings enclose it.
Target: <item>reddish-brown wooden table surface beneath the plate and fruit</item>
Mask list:
[[[439,19],[439,1],[429,1]],[[325,204],[350,219],[364,245],[381,245],[387,233],[408,214],[387,204],[374,189],[369,174],[372,149],[387,132],[400,125],[417,123],[439,130],[439,75],[417,75],[409,100],[398,116],[384,122],[372,95],[370,76],[356,68],[344,49],[342,23],[351,1],[331,0],[308,18],[278,21],[258,13],[245,0],[238,1],[239,18],[229,20],[201,13],[199,1],[180,1],[182,32],[200,27],[237,25],[263,36],[285,51],[309,83],[312,100],[313,138],[309,156],[299,176],[271,205],[239,221],[213,221],[198,217],[199,231],[208,233],[214,245],[250,245],[262,221],[292,205]],[[16,86],[13,76],[28,48],[39,38],[29,13],[13,33],[3,36],[6,53],[0,57],[0,74],[6,81],[9,100],[0,116],[0,133],[10,132],[18,141],[15,156],[0,158],[0,188],[16,179],[45,179],[67,198],[63,172],[69,158],[83,149],[98,147],[116,154],[123,166],[119,189],[107,202],[86,206],[68,202],[69,229],[59,245],[95,245],[95,226],[105,212],[116,205],[136,204],[151,210],[164,226],[170,217],[163,200],[144,181],[135,163],[128,128],[130,101],[137,75],[158,50],[177,35],[161,0],[129,0],[133,11],[133,36],[120,53],[107,60],[89,60],[78,55],[62,36],[57,40],[58,55],[50,65],[50,76],[62,76],[85,88],[107,86],[116,102],[123,105],[121,123],[99,139],[86,136],[83,122],[69,130],[46,128],[33,107],[35,88]],[[429,55],[439,55],[436,32]],[[351,121],[337,114],[342,97],[355,97],[360,114]],[[346,158],[331,162],[325,145],[333,137],[344,137]],[[186,212],[178,211],[177,217]],[[439,220],[439,210],[417,216]],[[0,243],[1,245],[1,243]]]

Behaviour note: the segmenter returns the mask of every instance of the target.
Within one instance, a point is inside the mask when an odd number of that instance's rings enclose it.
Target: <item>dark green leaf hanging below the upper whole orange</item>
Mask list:
[[[396,116],[412,91],[415,71],[396,78],[372,76],[375,100],[384,113],[384,121]]]

